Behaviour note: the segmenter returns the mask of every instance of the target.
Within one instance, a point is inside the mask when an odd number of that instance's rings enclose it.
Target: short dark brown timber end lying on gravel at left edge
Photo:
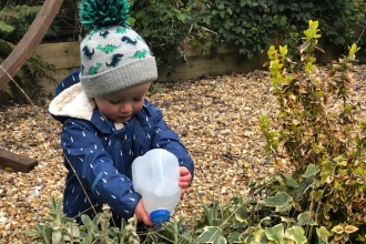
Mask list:
[[[37,166],[38,160],[19,155],[0,149],[0,165],[10,167],[13,172],[28,173]]]

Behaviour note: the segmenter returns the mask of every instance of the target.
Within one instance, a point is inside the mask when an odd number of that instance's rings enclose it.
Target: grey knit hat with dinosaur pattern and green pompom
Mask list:
[[[90,30],[80,44],[80,81],[89,98],[157,79],[155,58],[129,26],[126,0],[82,0],[80,21]]]

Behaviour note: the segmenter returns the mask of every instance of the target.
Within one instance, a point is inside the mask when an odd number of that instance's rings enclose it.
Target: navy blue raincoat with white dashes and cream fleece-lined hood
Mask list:
[[[99,112],[93,100],[79,92],[81,85],[74,89],[79,72],[60,82],[49,108],[52,116],[63,123],[61,148],[69,170],[63,211],[79,221],[80,214],[94,216],[91,205],[99,213],[106,203],[119,225],[121,217],[133,216],[141,199],[132,186],[131,164],[136,156],[151,149],[165,149],[175,154],[192,176],[193,161],[179,135],[164,122],[161,111],[146,100],[143,109],[124,123],[124,128],[118,129]],[[77,91],[70,92],[73,90]]]

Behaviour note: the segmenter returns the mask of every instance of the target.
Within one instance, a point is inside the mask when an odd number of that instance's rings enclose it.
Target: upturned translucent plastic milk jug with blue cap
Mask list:
[[[150,218],[155,224],[170,220],[181,197],[180,165],[176,156],[163,149],[153,149],[132,163],[132,182]]]

